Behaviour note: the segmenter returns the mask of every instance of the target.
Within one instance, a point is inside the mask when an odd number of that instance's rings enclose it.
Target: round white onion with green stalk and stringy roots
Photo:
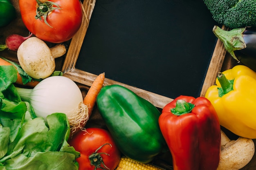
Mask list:
[[[70,126],[80,126],[88,120],[88,108],[83,104],[83,95],[71,79],[52,76],[43,79],[34,88],[17,88],[23,101],[31,104],[37,117],[46,120],[52,113],[65,113]]]

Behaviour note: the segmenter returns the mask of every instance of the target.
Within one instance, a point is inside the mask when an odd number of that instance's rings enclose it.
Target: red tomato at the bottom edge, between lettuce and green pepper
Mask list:
[[[86,131],[78,132],[68,141],[80,152],[81,157],[76,159],[79,170],[115,170],[121,154],[110,133],[102,128],[87,128]]]

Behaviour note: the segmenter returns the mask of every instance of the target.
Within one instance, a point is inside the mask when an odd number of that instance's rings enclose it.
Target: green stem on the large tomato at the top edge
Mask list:
[[[51,2],[51,1],[46,1],[46,2],[40,2],[40,0],[36,0],[37,4],[38,4],[38,8],[36,9],[36,16],[35,18],[39,20],[42,20],[42,16],[44,18],[44,22],[45,24],[47,24],[48,26],[50,26],[47,22],[47,16],[48,13],[55,10],[55,9],[62,9],[59,4]],[[56,7],[54,7],[56,6]],[[52,26],[50,26],[52,28]]]

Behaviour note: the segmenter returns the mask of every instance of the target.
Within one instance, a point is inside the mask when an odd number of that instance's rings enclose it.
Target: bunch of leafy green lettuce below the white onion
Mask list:
[[[78,170],[67,116],[53,113],[46,124],[21,101],[13,85],[16,68],[0,66],[0,77],[0,170]]]

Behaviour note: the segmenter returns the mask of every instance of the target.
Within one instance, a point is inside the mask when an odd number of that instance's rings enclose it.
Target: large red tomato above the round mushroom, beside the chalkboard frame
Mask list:
[[[41,1],[43,2],[43,0]],[[27,29],[41,40],[53,43],[70,40],[82,23],[83,13],[80,1],[49,0],[41,3],[40,7],[47,6],[48,2],[56,3],[50,5],[51,7],[57,7],[58,4],[60,9],[53,9],[49,12],[45,22],[44,15],[41,16],[41,19],[35,18],[39,8],[37,0],[19,0],[22,21]],[[46,9],[49,10],[49,8]]]

